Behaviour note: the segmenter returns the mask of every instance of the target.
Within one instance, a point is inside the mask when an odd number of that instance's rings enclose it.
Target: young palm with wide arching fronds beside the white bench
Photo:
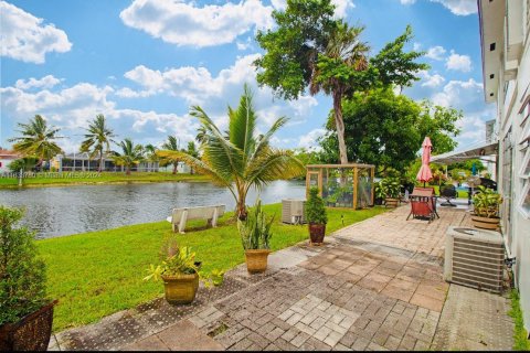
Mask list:
[[[188,165],[206,174],[219,185],[226,186],[236,202],[236,215],[245,220],[246,195],[251,188],[258,190],[267,183],[299,175],[304,167],[290,151],[269,145],[271,137],[286,122],[282,117],[264,135],[257,135],[257,116],[252,105],[252,93],[245,85],[236,109],[229,107],[229,130],[221,132],[199,106],[190,114],[198,118],[203,131],[199,150],[202,159],[186,152],[160,151],[160,156],[180,157]]]

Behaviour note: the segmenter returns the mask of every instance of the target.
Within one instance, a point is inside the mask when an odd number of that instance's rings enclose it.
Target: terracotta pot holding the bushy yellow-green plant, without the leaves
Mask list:
[[[199,275],[161,276],[166,300],[170,304],[189,304],[195,299]]]

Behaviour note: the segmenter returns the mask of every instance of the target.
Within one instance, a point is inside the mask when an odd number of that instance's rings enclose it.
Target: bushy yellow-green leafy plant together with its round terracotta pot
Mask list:
[[[199,288],[199,268],[195,253],[189,247],[178,247],[173,237],[165,243],[165,255],[160,265],[151,264],[144,280],[162,280],[166,300],[170,304],[189,304],[195,299]]]

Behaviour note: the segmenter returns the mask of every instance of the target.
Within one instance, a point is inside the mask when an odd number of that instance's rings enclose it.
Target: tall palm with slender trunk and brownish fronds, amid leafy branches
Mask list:
[[[364,26],[349,26],[348,23],[338,21],[337,28],[329,39],[326,53],[319,55],[309,87],[311,95],[324,90],[333,98],[335,125],[341,164],[348,163],[342,98],[349,89],[358,88],[354,87],[356,85],[362,85],[362,76],[356,77],[356,73],[364,72],[368,68],[370,47],[360,41],[363,30]]]

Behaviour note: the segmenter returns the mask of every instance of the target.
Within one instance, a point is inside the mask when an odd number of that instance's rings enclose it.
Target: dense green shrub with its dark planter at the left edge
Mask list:
[[[0,351],[45,351],[53,307],[33,233],[15,228],[23,211],[0,206]]]

